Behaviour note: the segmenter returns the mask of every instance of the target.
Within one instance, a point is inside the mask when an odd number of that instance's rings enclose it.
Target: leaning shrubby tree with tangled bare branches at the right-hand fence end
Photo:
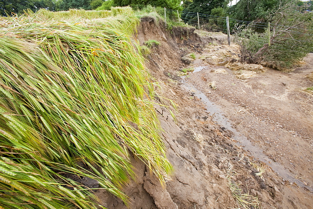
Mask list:
[[[267,17],[272,23],[270,39],[268,30],[260,34],[249,25],[241,26],[245,28],[239,28],[236,34],[240,59],[280,69],[305,57],[313,48],[313,13],[306,8],[307,5],[297,6],[297,1],[280,3]]]

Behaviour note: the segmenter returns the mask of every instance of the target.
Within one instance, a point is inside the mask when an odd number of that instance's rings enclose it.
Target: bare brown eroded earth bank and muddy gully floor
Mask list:
[[[221,66],[238,59],[237,47],[225,45],[222,34],[202,35],[192,28],[170,33],[153,18],[142,19],[138,28],[141,44],[161,42],[146,67],[161,82],[158,95],[177,105],[169,108],[175,119],[167,108],[155,106],[174,171],[162,186],[134,158],[137,177],[125,188],[128,207],[239,208],[250,200],[250,208],[311,208],[312,98],[300,90],[313,86],[305,79],[313,71],[313,54],[292,72],[265,69],[239,79]],[[187,65],[181,58],[191,52],[196,59]],[[208,59],[216,53],[230,57]],[[199,71],[183,75],[184,68]],[[127,208],[103,191],[97,194],[108,208]]]

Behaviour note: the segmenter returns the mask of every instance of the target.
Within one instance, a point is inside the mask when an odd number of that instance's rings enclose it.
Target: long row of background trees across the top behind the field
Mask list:
[[[279,8],[281,4],[291,1],[299,6],[307,4],[307,10],[313,10],[313,0],[308,2],[300,0],[239,0],[235,5],[229,5],[230,0],[2,0],[0,1],[0,13],[7,16],[11,13],[22,13],[26,9],[35,12],[42,8],[50,11],[64,11],[70,8],[110,10],[112,6],[131,6],[134,9],[142,9],[151,5],[187,13],[198,12],[220,17],[229,16],[248,22],[255,20],[266,22],[271,11]],[[186,18],[185,16],[182,18]]]

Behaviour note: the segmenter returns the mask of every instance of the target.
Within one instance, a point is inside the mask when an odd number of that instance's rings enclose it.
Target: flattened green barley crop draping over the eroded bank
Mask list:
[[[0,28],[0,205],[95,208],[69,175],[95,179],[127,203],[130,152],[168,180],[152,88],[124,31],[28,19]]]

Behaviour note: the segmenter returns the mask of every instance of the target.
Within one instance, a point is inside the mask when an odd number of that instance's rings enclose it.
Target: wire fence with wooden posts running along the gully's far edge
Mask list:
[[[209,32],[227,33],[226,17],[219,17],[201,13],[183,12],[171,9],[164,9],[166,19],[172,22],[183,22],[197,29]],[[275,23],[247,22],[228,18],[230,34],[249,28],[258,38],[249,41],[259,44],[273,45],[275,49],[285,49],[299,52],[299,45],[295,49],[295,44],[313,44],[313,29],[290,27]],[[275,31],[275,39],[273,38]],[[277,34],[281,35],[277,35]],[[312,45],[313,46],[313,45]]]

